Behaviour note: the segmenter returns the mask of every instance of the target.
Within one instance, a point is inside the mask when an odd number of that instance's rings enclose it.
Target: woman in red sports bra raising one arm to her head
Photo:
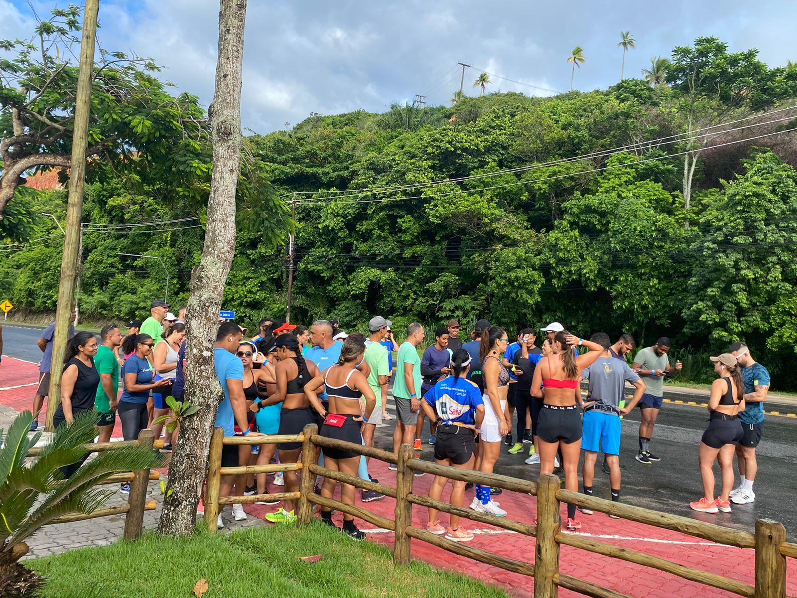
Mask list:
[[[576,356],[573,347],[588,348]],[[556,332],[551,343],[551,355],[543,357],[534,370],[532,396],[543,399],[537,422],[540,446],[540,474],[552,474],[556,451],[562,451],[564,487],[579,491],[579,457],[581,454],[581,372],[594,364],[603,347],[591,340],[580,339],[567,330]],[[576,404],[578,403],[578,404]],[[567,505],[567,529],[579,529],[575,520],[575,505]]]

